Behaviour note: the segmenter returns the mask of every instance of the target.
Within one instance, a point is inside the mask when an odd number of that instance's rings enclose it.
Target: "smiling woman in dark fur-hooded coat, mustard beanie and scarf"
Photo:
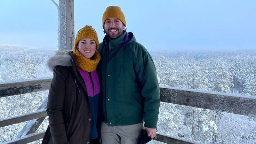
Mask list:
[[[98,144],[102,119],[99,40],[92,26],[77,32],[73,51],[58,51],[48,65],[53,79],[48,95],[49,126],[43,144]]]

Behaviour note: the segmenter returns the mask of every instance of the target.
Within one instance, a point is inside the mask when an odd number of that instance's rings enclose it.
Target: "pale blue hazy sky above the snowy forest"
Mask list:
[[[256,50],[255,0],[75,0],[75,33],[92,25],[101,42],[109,5],[148,50]],[[1,0],[0,44],[57,47],[57,12],[51,0]]]

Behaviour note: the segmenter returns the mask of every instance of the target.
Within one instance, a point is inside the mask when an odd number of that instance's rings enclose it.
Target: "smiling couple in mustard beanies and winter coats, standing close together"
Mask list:
[[[107,7],[102,26],[102,43],[86,25],[73,51],[49,60],[53,79],[43,144],[136,144],[142,129],[156,136],[160,96],[153,60],[126,32],[120,7]]]

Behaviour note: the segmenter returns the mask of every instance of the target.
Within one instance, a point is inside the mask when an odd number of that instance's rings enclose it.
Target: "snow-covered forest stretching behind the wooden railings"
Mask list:
[[[56,50],[0,45],[0,84],[52,76],[46,63]],[[256,96],[256,51],[149,53],[162,86]],[[34,112],[47,95],[42,91],[0,98],[0,119]],[[26,123],[0,128],[0,143],[15,139]],[[47,126],[46,118],[37,132]],[[255,144],[256,117],[161,102],[157,132],[205,144]]]

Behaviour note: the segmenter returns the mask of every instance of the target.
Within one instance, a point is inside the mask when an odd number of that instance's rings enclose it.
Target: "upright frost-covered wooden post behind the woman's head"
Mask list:
[[[59,49],[72,50],[74,46],[74,0],[59,0]]]

